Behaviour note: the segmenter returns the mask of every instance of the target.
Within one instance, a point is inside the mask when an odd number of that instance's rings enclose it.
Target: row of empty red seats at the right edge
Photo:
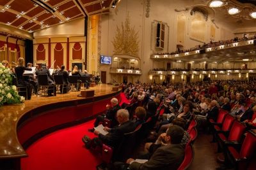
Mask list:
[[[253,169],[253,166],[255,168],[255,134],[246,130],[246,126],[227,111],[220,110],[217,121],[210,119],[209,122],[214,129],[213,141],[218,142],[218,152],[224,153],[226,166],[236,169]]]

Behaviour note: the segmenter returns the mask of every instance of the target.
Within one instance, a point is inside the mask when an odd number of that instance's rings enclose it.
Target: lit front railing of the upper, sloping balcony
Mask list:
[[[205,49],[205,53],[207,52],[212,52],[212,51],[216,51],[216,50],[223,50],[223,49],[227,49],[227,48],[234,48],[237,46],[246,46],[246,45],[253,45],[253,41],[255,41],[256,39],[250,39],[250,40],[246,40],[246,41],[239,41],[236,43],[229,43],[229,44],[225,44],[225,45],[219,45],[219,46],[212,46],[209,48],[204,48]],[[202,49],[200,49],[202,50]],[[177,53],[177,54],[154,54],[151,55],[150,58],[151,59],[175,59],[175,57],[184,57],[184,56],[188,56],[188,55],[194,55],[196,53],[200,53],[200,50],[194,50],[194,51],[190,51],[190,52],[183,52],[183,53]]]

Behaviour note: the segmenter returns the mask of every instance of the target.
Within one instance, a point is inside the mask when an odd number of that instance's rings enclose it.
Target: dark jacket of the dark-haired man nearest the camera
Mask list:
[[[159,147],[144,164],[132,162],[129,169],[134,170],[172,170],[178,169],[184,159],[184,148],[180,144]]]

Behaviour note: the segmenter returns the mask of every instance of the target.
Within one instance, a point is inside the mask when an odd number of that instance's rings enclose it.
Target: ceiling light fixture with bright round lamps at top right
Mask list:
[[[253,4],[243,4],[235,0],[213,0],[208,5],[211,8],[224,8],[229,15],[235,18],[246,20],[256,18],[256,6]]]

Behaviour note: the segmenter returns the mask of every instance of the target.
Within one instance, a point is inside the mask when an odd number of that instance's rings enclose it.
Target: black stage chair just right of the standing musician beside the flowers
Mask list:
[[[42,89],[44,96],[47,96],[48,90],[52,90],[55,94],[55,85],[49,85],[47,74],[38,74],[38,89]]]

